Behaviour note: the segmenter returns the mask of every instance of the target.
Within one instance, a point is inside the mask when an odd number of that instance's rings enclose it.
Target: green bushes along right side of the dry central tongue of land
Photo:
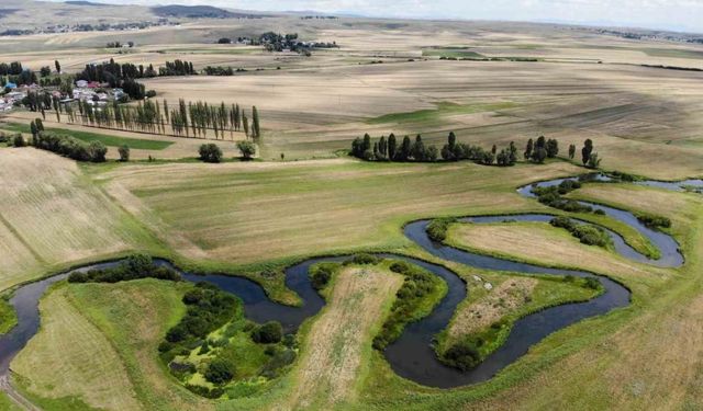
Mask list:
[[[427,298],[438,296],[443,284],[443,281],[436,275],[402,261],[393,262],[390,270],[402,274],[405,281],[395,294],[397,298],[391,307],[390,316],[379,334],[373,339],[373,347],[377,350],[386,349],[388,344],[401,335],[405,324],[426,315],[425,311],[434,306],[434,304],[427,304]]]

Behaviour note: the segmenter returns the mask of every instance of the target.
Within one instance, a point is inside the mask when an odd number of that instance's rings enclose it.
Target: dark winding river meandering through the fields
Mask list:
[[[558,179],[538,184],[554,185],[559,184],[562,180],[563,179]],[[671,184],[670,186],[663,186],[670,187],[670,190],[681,189],[680,184]],[[518,189],[518,192],[523,195],[532,196],[528,187],[529,186],[521,187]],[[632,213],[595,204],[589,205],[594,208],[601,208],[612,218],[637,229],[659,248],[662,255],[660,260],[649,260],[632,249],[632,247],[627,246],[620,235],[607,230],[611,238],[613,238],[616,252],[621,253],[623,256],[659,266],[679,266],[683,263],[683,255],[681,255],[679,251],[678,243],[670,236],[645,227]],[[526,214],[520,216],[467,217],[462,220],[480,224],[500,221],[503,219],[548,221],[550,218],[551,216],[548,215]],[[546,269],[533,264],[518,263],[458,250],[431,240],[425,231],[427,224],[429,224],[429,220],[414,221],[408,224],[403,228],[403,231],[410,240],[442,260],[453,261],[482,270],[523,274],[596,277],[603,285],[605,293],[589,301],[548,308],[517,320],[506,342],[500,349],[486,358],[486,361],[478,367],[468,372],[460,372],[445,366],[437,359],[435,352],[432,349],[432,341],[434,335],[447,327],[457,306],[466,298],[467,290],[464,281],[454,272],[442,265],[404,255],[379,254],[379,256],[403,260],[409,263],[420,265],[423,269],[440,276],[449,286],[447,295],[429,316],[409,324],[400,339],[386,349],[386,358],[393,370],[401,377],[425,386],[442,388],[459,387],[484,381],[493,377],[505,366],[515,362],[524,355],[532,345],[536,344],[550,333],[582,319],[603,315],[612,309],[625,307],[629,304],[629,290],[607,277],[598,276],[584,271]],[[324,299],[314,290],[310,283],[308,276],[310,266],[320,262],[341,262],[345,259],[345,256],[314,258],[292,265],[286,270],[286,285],[298,293],[304,301],[302,307],[289,307],[271,301],[258,284],[247,278],[217,274],[193,275],[179,272],[186,281],[193,283],[207,281],[242,298],[244,301],[246,317],[250,320],[256,322],[277,320],[283,324],[287,332],[294,332],[305,319],[317,313],[325,304]],[[169,262],[163,260],[157,261],[157,263],[171,265]],[[113,264],[116,264],[116,262],[93,264],[79,270],[86,271],[100,269]],[[174,269],[177,270],[176,267]],[[36,283],[24,285],[15,292],[10,304],[18,312],[19,323],[9,333],[0,336],[0,376],[5,376],[8,374],[12,358],[38,331],[41,320],[38,300],[42,295],[51,285],[65,279],[67,276],[67,273],[59,274]]]

